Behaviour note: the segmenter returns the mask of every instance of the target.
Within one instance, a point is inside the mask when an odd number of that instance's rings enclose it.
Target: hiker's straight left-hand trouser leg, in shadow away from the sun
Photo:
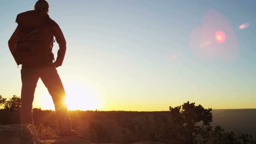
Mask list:
[[[33,124],[32,103],[38,79],[37,69],[21,68],[21,124]]]

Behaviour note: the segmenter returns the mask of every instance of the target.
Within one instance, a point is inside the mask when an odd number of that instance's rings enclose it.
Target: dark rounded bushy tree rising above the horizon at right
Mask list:
[[[207,131],[212,122],[212,109],[204,109],[201,105],[195,106],[195,103],[184,103],[179,107],[170,107],[172,129],[179,131],[177,137],[186,144],[194,144],[195,141],[204,137],[204,131]]]

